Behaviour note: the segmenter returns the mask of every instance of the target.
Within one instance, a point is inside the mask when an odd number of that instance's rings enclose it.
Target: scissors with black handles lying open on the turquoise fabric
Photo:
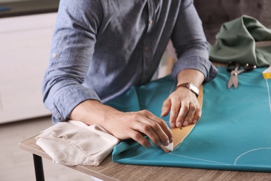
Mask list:
[[[254,68],[256,68],[256,65],[251,65],[251,64],[245,64],[243,66],[243,69],[239,70],[239,63],[236,62],[230,62],[227,65],[227,71],[231,72],[231,77],[229,77],[229,81],[228,81],[228,88],[231,88],[231,86],[234,86],[234,88],[237,88],[238,86],[238,74],[242,73],[242,72],[249,72],[251,70],[254,70]]]

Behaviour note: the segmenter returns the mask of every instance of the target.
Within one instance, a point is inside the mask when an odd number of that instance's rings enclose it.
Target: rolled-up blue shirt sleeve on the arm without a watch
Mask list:
[[[102,10],[96,1],[85,2],[61,0],[58,9],[42,83],[44,105],[57,122],[67,120],[84,100],[99,100],[95,91],[82,84],[94,52]]]

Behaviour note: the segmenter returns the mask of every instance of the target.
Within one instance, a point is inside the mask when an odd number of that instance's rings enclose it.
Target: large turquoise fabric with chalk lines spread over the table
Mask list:
[[[268,83],[256,68],[239,75],[237,89],[227,88],[229,72],[218,68],[217,77],[204,84],[202,119],[183,143],[170,153],[133,140],[113,150],[120,164],[210,168],[233,171],[271,171],[271,113]],[[173,86],[173,87],[172,87]],[[175,84],[170,77],[152,81],[108,102],[122,111],[148,109],[160,116],[163,100]],[[270,85],[271,86],[271,85]],[[164,120],[168,124],[169,117]]]

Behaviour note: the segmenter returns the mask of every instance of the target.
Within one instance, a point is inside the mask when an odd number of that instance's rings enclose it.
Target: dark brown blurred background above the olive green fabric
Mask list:
[[[241,15],[255,17],[271,28],[271,0],[194,0],[194,4],[211,44],[215,43],[215,35],[224,22]]]

